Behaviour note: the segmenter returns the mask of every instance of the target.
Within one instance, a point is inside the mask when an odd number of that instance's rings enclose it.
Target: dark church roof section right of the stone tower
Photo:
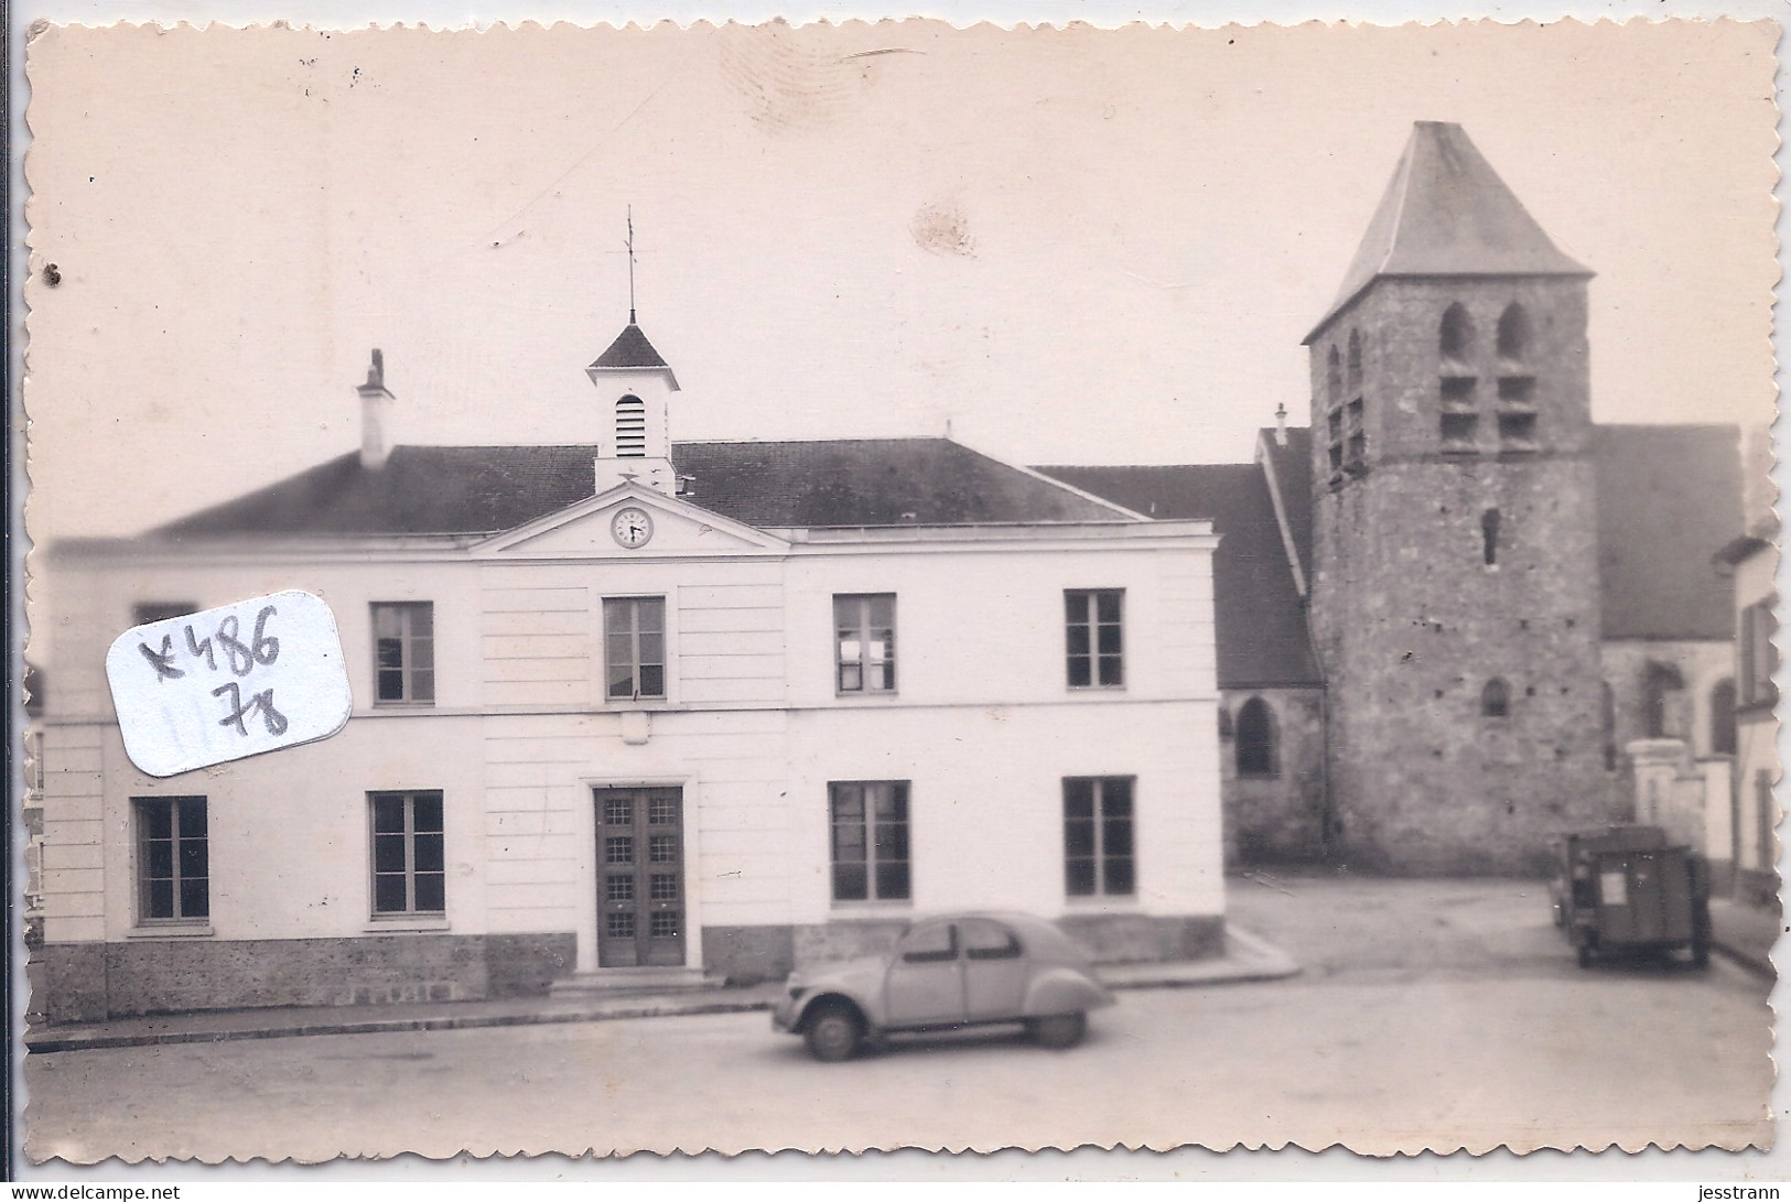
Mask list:
[[[1605,638],[1728,640],[1743,532],[1735,426],[1592,426]]]

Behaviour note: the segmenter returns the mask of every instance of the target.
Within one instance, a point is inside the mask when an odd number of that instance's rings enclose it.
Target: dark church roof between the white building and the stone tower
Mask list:
[[[1293,435],[1293,430],[1288,434]],[[1290,437],[1288,450],[1293,450],[1291,442]],[[1322,683],[1306,629],[1306,609],[1293,586],[1261,468],[1186,464],[1039,471],[1152,518],[1213,521],[1213,530],[1221,536],[1213,557],[1220,688]],[[1304,478],[1309,471],[1302,462],[1295,475]],[[1306,528],[1309,530],[1309,518]]]

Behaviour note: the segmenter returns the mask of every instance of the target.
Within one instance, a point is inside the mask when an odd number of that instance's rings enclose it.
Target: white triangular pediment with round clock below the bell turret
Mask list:
[[[625,484],[473,548],[478,557],[621,559],[783,552],[788,543],[652,489]]]

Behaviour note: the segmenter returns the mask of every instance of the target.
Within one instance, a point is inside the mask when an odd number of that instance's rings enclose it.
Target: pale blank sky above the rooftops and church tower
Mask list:
[[[1766,421],[1775,32],[1734,23],[57,29],[30,47],[36,537],[358,446],[673,437],[1218,462],[1286,403],[1413,120],[1592,283],[1599,421]]]

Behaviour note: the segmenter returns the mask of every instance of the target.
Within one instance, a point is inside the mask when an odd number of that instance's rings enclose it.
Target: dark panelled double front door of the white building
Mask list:
[[[598,788],[596,964],[684,964],[684,794]]]

